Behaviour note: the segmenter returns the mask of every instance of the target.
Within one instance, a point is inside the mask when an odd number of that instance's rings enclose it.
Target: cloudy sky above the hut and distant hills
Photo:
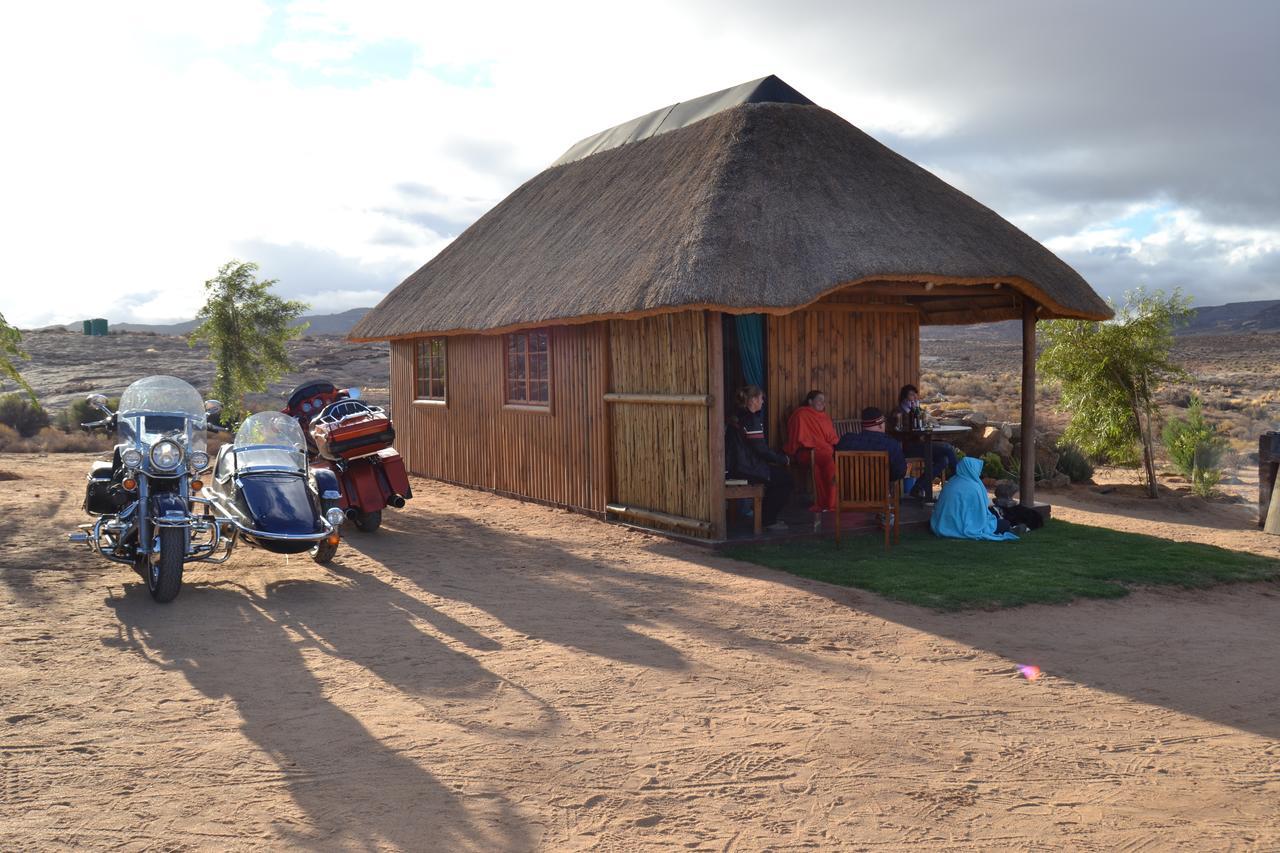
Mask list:
[[[1263,0],[8,4],[0,313],[184,320],[230,259],[370,306],[577,140],[765,74],[1106,297],[1280,298],[1277,47]]]

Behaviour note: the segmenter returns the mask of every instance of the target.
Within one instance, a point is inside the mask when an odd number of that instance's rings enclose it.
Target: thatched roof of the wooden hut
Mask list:
[[[769,79],[730,91],[756,92]],[[699,100],[723,104],[724,95]],[[835,113],[768,96],[686,113],[691,123],[667,117],[641,128],[653,132],[607,131],[577,143],[404,279],[351,336],[691,307],[778,313],[881,282],[983,293],[964,314],[947,300],[933,321],[1019,316],[1016,292],[1041,304],[1042,318],[1111,316],[1051,251]],[[602,137],[607,143],[593,145]],[[1007,287],[992,296],[992,284]],[[928,302],[919,300],[925,323]]]

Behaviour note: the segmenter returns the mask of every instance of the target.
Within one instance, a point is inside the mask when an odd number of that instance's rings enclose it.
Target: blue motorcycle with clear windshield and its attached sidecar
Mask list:
[[[177,598],[184,565],[225,562],[239,538],[285,553],[310,549],[317,562],[333,558],[344,517],[338,483],[329,471],[307,470],[306,442],[292,419],[265,412],[287,421],[274,433],[257,429],[261,420],[250,416],[244,425],[253,421],[253,428],[246,433],[242,425],[236,441],[244,433],[246,444],[255,442],[250,457],[262,448],[274,453],[271,461],[228,466],[224,459],[236,459],[236,444],[224,446],[218,457],[223,480],[215,467],[206,489],[207,418],[220,403],[164,375],[131,384],[114,412],[102,394],[88,400],[105,416],[83,426],[114,430],[116,444],[111,460],[93,462],[88,473],[84,511],[95,520],[69,539],[132,566],[155,601]]]

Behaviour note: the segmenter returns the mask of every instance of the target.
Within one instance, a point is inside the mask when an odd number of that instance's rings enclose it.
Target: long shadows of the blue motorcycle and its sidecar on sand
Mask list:
[[[394,615],[394,597],[378,602],[383,621],[335,628],[342,612],[319,616],[334,602],[317,589],[326,584],[296,583],[266,598],[225,584],[189,584],[182,603],[198,613],[198,624],[179,619],[183,610],[156,607],[141,584],[109,598],[120,621],[113,643],[164,669],[177,670],[204,695],[229,698],[243,720],[243,734],[262,748],[285,776],[293,800],[311,830],[280,831],[291,844],[366,849],[483,848],[527,849],[534,838],[502,797],[484,797],[484,817],[467,808],[462,795],[424,765],[429,754],[393,749],[356,717],[325,698],[325,685],[302,654],[287,624],[312,637],[325,633],[333,653],[362,662],[384,680],[415,690],[457,690],[494,676],[465,654]],[[365,592],[369,592],[367,589]],[[385,592],[385,590],[384,590]],[[344,593],[347,599],[352,593]],[[374,594],[378,594],[376,592]],[[365,633],[356,635],[356,631]],[[367,654],[356,648],[381,649]],[[340,651],[339,651],[340,649]],[[388,649],[394,649],[390,653]],[[384,656],[385,652],[385,656]],[[421,661],[410,663],[408,658]],[[448,679],[429,678],[436,671]],[[475,799],[470,799],[475,803]]]

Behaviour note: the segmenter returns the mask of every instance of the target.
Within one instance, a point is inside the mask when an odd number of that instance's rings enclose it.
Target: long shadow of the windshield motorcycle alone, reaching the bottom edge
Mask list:
[[[284,598],[311,598],[317,606],[329,606],[323,587],[332,584],[300,581]],[[182,674],[209,699],[236,706],[239,733],[270,756],[279,771],[275,777],[282,780],[274,784],[287,789],[306,813],[308,829],[293,836],[294,830],[288,829],[293,821],[280,821],[275,831],[282,838],[303,845],[324,841],[370,849],[415,849],[425,838],[443,849],[532,845],[529,830],[497,790],[486,795],[483,809],[468,808],[460,792],[424,768],[430,756],[390,748],[370,731],[370,725],[385,722],[376,704],[361,704],[355,712],[339,707],[330,697],[351,697],[353,692],[320,678],[305,654],[315,640],[298,640],[288,628],[289,619],[297,619],[287,617],[278,601],[239,584],[211,581],[184,588],[179,602],[188,606],[156,607],[142,584],[125,587],[123,596],[106,599],[119,628],[115,638],[104,642]],[[150,725],[155,708],[173,698],[143,685],[131,701],[150,708],[131,717]],[[191,761],[193,766],[218,768],[221,763],[228,777],[236,777],[238,768],[259,761],[243,749],[228,749],[225,731],[192,731],[214,725],[204,717],[164,722],[179,722],[184,742],[207,749],[206,756]],[[238,792],[223,790],[227,797]]]

